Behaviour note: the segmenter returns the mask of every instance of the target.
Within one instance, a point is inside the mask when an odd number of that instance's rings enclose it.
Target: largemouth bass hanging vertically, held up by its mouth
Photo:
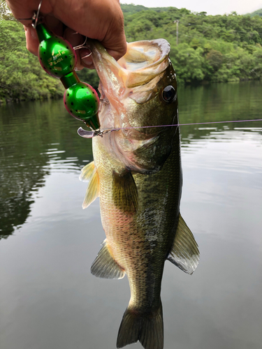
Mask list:
[[[100,198],[106,236],[91,272],[129,279],[131,298],[117,348],[140,341],[145,349],[163,349],[164,264],[169,260],[192,274],[199,260],[198,244],[180,214],[180,128],[170,45],[164,39],[128,43],[119,61],[98,41],[87,45],[100,78],[101,130],[115,130],[93,138],[94,161],[80,174],[89,182],[82,207]]]

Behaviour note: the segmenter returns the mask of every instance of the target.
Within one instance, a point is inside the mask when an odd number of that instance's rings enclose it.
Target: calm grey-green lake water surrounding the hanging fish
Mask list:
[[[261,82],[178,91],[180,123],[262,118]],[[82,210],[90,140],[62,101],[0,107],[0,347],[114,349],[129,285],[92,276],[99,200]],[[166,262],[165,349],[261,349],[262,121],[181,126],[181,212],[201,260]],[[140,343],[128,348],[142,348]]]

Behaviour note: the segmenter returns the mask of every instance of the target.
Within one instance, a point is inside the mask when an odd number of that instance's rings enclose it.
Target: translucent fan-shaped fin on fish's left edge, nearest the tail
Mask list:
[[[103,279],[122,279],[126,274],[124,270],[119,267],[117,262],[115,262],[114,258],[112,258],[106,244],[106,239],[91,266],[91,273]]]

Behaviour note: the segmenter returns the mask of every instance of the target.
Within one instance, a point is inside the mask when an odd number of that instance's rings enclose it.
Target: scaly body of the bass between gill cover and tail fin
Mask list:
[[[126,272],[131,289],[129,307],[138,312],[159,308],[163,265],[173,246],[179,217],[182,188],[180,138],[159,172],[133,173],[138,188],[136,214],[125,214],[115,206],[114,167],[103,143],[93,145],[99,173],[101,220],[108,249]],[[117,166],[119,166],[117,164]]]

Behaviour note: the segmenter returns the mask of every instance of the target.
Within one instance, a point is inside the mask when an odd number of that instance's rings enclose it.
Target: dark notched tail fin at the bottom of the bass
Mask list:
[[[137,313],[127,307],[119,327],[117,348],[140,341],[145,349],[163,349],[162,304],[152,313]]]

